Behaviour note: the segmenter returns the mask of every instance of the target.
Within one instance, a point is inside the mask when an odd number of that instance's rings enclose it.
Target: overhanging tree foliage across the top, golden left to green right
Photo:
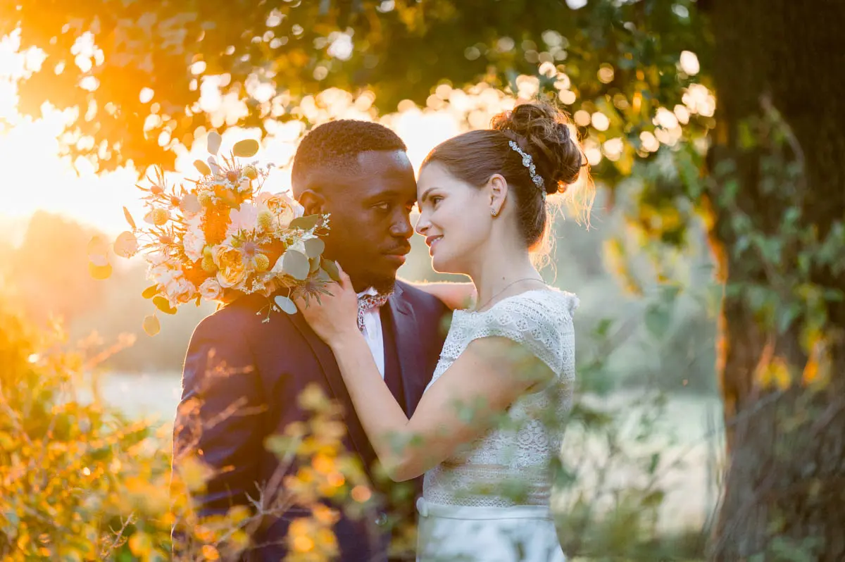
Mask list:
[[[390,112],[405,99],[442,103],[430,96],[444,80],[515,93],[521,75],[537,75],[540,89],[560,91],[573,112],[605,114],[608,128],[591,131],[597,143],[623,139],[619,158],[599,170],[608,183],[646,154],[640,135],[656,129],[657,107],[681,102],[690,75],[679,56],[706,45],[704,24],[691,0],[597,0],[578,10],[558,0],[100,0],[61,8],[30,0],[0,11],[0,35],[18,33],[21,51],[45,56],[19,85],[21,111],[37,114],[45,101],[74,110],[74,141],[63,150],[101,169],[129,160],[167,166],[174,143],[191,145],[200,126],[220,128],[198,105],[199,83],[212,76],[244,101],[239,124],[264,128],[266,119],[303,118],[303,96],[331,87],[369,90],[375,107]],[[709,126],[710,117],[692,119]]]

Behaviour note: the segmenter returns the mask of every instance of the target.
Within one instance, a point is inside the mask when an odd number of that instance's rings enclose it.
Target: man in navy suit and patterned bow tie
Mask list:
[[[409,215],[417,199],[405,144],[376,123],[325,123],[299,145],[292,185],[306,215],[330,213],[324,256],[340,263],[359,296],[368,296],[359,321],[363,319],[364,335],[385,384],[410,416],[443,346],[439,325],[445,307],[395,279],[411,248]],[[174,429],[174,464],[186,453],[195,453],[215,469],[204,491],[194,495],[200,516],[225,514],[232,505],[249,505],[248,496],[258,497],[259,488],[280,466],[278,458],[264,449],[264,439],[282,434],[290,423],[306,421],[297,396],[307,385],[319,385],[343,406],[346,448],[363,461],[373,480],[373,447],[330,348],[300,314],[272,314],[270,322],[262,323],[264,315],[257,313],[266,305],[264,297],[242,297],[204,319],[188,346]],[[234,374],[211,376],[221,363]],[[189,414],[183,406],[191,403],[201,404],[199,411]],[[199,432],[190,429],[189,421],[196,417],[204,426]],[[289,470],[295,471],[296,467]],[[303,516],[308,513],[292,508],[264,521],[242,559],[284,559],[290,522]],[[387,560],[386,521],[384,510],[374,521],[341,515],[334,528],[340,559]],[[380,536],[371,541],[368,528],[373,523]]]

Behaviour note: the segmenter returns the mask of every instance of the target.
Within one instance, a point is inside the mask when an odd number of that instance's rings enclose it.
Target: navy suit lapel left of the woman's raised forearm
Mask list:
[[[375,452],[367,439],[367,434],[364,433],[361,421],[358,419],[355,412],[355,407],[352,406],[352,397],[349,396],[349,390],[346,390],[346,383],[343,382],[341,369],[337,366],[335,354],[331,348],[319,339],[319,336],[311,330],[308,323],[303,318],[302,314],[291,314],[289,316],[293,325],[303,335],[305,341],[308,341],[308,346],[314,357],[317,357],[317,362],[320,368],[323,369],[326,381],[329,383],[329,388],[335,399],[343,406],[343,417],[346,419],[346,431],[349,434],[349,439],[352,440],[352,446],[358,451],[362,457],[367,470],[369,465],[375,459]]]

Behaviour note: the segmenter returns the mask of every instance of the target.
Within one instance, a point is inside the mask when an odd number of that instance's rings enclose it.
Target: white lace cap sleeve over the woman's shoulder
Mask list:
[[[567,362],[574,356],[572,313],[577,307],[578,297],[571,293],[522,293],[477,314],[469,340],[506,337],[525,346],[560,375],[569,370]]]

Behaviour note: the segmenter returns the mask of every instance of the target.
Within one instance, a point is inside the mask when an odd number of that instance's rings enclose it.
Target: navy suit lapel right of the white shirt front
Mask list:
[[[413,308],[403,296],[401,284],[396,283],[389,303],[390,312],[393,314],[396,355],[399,358],[402,386],[405,389],[405,411],[408,412],[408,417],[411,417],[423,397],[426,384],[426,374],[421,372],[425,367],[419,357],[417,319]]]

